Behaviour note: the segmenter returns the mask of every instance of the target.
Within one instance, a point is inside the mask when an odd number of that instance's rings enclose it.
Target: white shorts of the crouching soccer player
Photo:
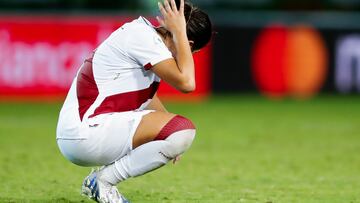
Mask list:
[[[152,110],[110,113],[85,120],[81,139],[57,139],[61,153],[80,166],[103,166],[132,150],[132,140],[142,117]]]

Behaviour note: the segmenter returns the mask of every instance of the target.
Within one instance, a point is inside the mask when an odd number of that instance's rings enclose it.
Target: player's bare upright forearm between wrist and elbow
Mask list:
[[[191,92],[195,89],[195,65],[186,31],[173,33],[173,40],[182,85]]]

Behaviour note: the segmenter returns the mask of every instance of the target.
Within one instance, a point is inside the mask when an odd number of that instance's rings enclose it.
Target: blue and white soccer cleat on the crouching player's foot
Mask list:
[[[130,203],[115,186],[97,178],[98,172],[92,171],[81,187],[81,194],[99,203]]]

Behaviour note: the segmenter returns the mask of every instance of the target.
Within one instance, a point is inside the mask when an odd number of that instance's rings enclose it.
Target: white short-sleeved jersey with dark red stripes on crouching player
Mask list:
[[[124,24],[78,71],[60,112],[57,138],[81,139],[81,123],[98,115],[143,110],[160,82],[150,69],[169,58],[149,21],[139,17]]]

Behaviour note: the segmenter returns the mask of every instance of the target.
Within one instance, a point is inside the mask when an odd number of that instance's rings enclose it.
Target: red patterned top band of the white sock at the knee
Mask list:
[[[194,124],[189,119],[176,115],[161,129],[154,140],[165,140],[171,134],[187,129],[195,129]]]

